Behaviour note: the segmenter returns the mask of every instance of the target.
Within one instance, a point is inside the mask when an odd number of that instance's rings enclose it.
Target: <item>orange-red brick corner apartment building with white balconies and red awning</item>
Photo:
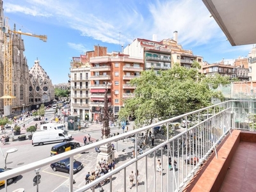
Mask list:
[[[113,52],[109,56],[90,58],[90,111],[94,120],[99,118],[104,107],[104,95],[108,94],[109,109],[116,116],[124,99],[134,96],[130,81],[140,77],[143,60]]]

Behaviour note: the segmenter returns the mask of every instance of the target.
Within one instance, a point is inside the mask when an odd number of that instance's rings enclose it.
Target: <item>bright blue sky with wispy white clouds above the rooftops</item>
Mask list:
[[[22,35],[31,68],[36,58],[53,84],[67,83],[70,61],[93,45],[120,51],[135,38],[173,38],[204,61],[247,56],[252,45],[232,47],[201,0],[3,0],[13,29],[47,35],[47,42]]]

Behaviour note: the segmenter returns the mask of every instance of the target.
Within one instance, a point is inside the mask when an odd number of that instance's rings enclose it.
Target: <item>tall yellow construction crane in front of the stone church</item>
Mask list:
[[[8,26],[8,17],[6,17],[6,24],[4,24],[2,31],[4,33],[4,95],[0,99],[4,99],[4,115],[10,115],[12,113],[12,99],[15,97],[12,95],[12,37],[13,34],[34,36],[47,41],[46,35],[35,35],[32,33],[24,33],[22,31],[16,31],[15,24],[14,29],[10,29]]]

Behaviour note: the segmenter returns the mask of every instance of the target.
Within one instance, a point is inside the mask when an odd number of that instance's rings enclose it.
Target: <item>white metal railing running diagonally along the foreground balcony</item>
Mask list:
[[[52,184],[55,185],[54,189],[56,191],[61,191],[62,188],[70,192],[90,191],[90,188],[92,188],[92,191],[95,191],[97,184],[109,179],[109,183],[103,186],[105,191],[120,191],[120,189],[126,191],[129,190],[128,175],[131,173],[131,170],[139,170],[140,181],[143,181],[143,186],[133,186],[136,191],[138,191],[138,188],[143,191],[182,191],[182,188],[186,186],[198,168],[204,165],[212,152],[215,154],[216,147],[220,145],[225,136],[231,134],[230,129],[254,130],[253,127],[250,127],[250,122],[252,122],[250,116],[255,113],[255,106],[255,101],[252,100],[228,100],[227,102],[221,102],[207,108],[157,122],[156,124],[147,125],[140,129],[119,134],[118,136],[85,145],[56,156],[24,164],[8,170],[8,172],[0,173],[0,177],[1,180],[4,180],[25,173],[31,175],[36,168],[49,167],[49,164],[67,157],[70,157],[72,162],[74,156],[81,156],[81,153],[84,151],[94,150],[95,147],[107,143],[115,143],[123,138],[127,140],[127,137],[132,136],[134,137],[131,138],[131,141],[134,141],[134,145],[131,148],[137,152],[138,145],[144,141],[143,136],[145,136],[145,132],[150,130],[154,134],[154,127],[164,125],[166,128],[162,127],[161,129],[164,129],[166,134],[156,134],[154,136],[154,147],[145,148],[143,153],[135,153],[135,157],[132,159],[127,158],[127,154],[119,152],[118,166],[89,184],[84,185],[82,183],[84,182],[84,173],[81,176],[74,175],[73,172],[70,172],[69,179],[65,183],[52,182]],[[211,111],[211,114],[209,111]],[[184,127],[181,127],[181,125]],[[124,158],[122,158],[123,156]],[[172,158],[171,170],[169,167],[169,157]],[[159,168],[156,163],[157,159],[163,165],[161,170],[164,169],[165,175],[159,175],[159,172],[156,172]],[[174,164],[173,160],[177,164]],[[73,169],[73,164],[70,164],[70,169]],[[95,167],[88,169],[94,170]],[[80,177],[83,177],[81,179],[83,181],[79,185],[75,184],[74,188],[73,179],[78,180]],[[47,177],[42,177],[40,180],[44,183],[50,182]],[[136,181],[136,176],[134,180]],[[20,188],[22,188],[22,184],[20,184]]]

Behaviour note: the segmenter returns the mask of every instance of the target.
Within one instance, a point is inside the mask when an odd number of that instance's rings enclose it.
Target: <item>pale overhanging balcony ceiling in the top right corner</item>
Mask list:
[[[256,44],[255,0],[202,0],[232,46]]]

